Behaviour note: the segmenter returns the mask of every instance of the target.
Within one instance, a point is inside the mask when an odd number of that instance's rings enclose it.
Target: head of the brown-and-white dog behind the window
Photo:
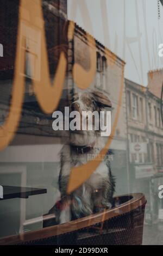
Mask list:
[[[105,107],[111,107],[111,102],[106,95],[93,90],[92,92],[74,93],[71,98],[70,112],[80,113],[80,130],[71,132],[71,143],[74,145],[89,145],[95,141],[100,130],[95,130],[95,116],[92,117],[92,130],[88,129],[88,115],[83,116],[84,112],[101,112]],[[86,130],[83,130],[82,119],[86,119]]]

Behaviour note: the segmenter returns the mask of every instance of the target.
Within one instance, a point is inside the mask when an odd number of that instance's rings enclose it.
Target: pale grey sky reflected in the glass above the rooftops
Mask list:
[[[92,5],[93,2],[93,5]],[[68,0],[68,19],[126,62],[125,77],[147,86],[147,72],[163,68],[163,8],[155,0]]]

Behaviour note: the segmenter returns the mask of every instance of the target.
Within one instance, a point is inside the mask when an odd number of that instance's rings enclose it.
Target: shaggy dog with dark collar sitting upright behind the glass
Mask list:
[[[94,90],[92,92],[74,93],[70,101],[70,111],[103,111],[105,107],[111,107],[111,102],[103,93]],[[77,218],[110,209],[113,205],[115,192],[115,179],[111,173],[109,155],[105,155],[95,172],[84,184],[67,194],[67,184],[71,169],[95,159],[105,145],[105,138],[100,130],[71,131],[70,142],[61,149],[59,190],[61,199],[55,203],[49,214],[54,212],[57,224],[66,223]]]

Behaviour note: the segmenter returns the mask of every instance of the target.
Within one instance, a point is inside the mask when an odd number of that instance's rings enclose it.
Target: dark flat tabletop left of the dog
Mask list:
[[[45,193],[47,193],[46,188],[3,186],[3,198],[0,198],[0,200],[28,198],[29,196]]]

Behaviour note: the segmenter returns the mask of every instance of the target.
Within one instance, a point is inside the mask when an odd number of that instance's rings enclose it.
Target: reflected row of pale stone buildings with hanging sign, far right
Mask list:
[[[153,217],[158,215],[158,186],[163,181],[163,130],[158,97],[162,80],[162,71],[149,72],[147,88],[126,80],[130,189],[146,194]]]

